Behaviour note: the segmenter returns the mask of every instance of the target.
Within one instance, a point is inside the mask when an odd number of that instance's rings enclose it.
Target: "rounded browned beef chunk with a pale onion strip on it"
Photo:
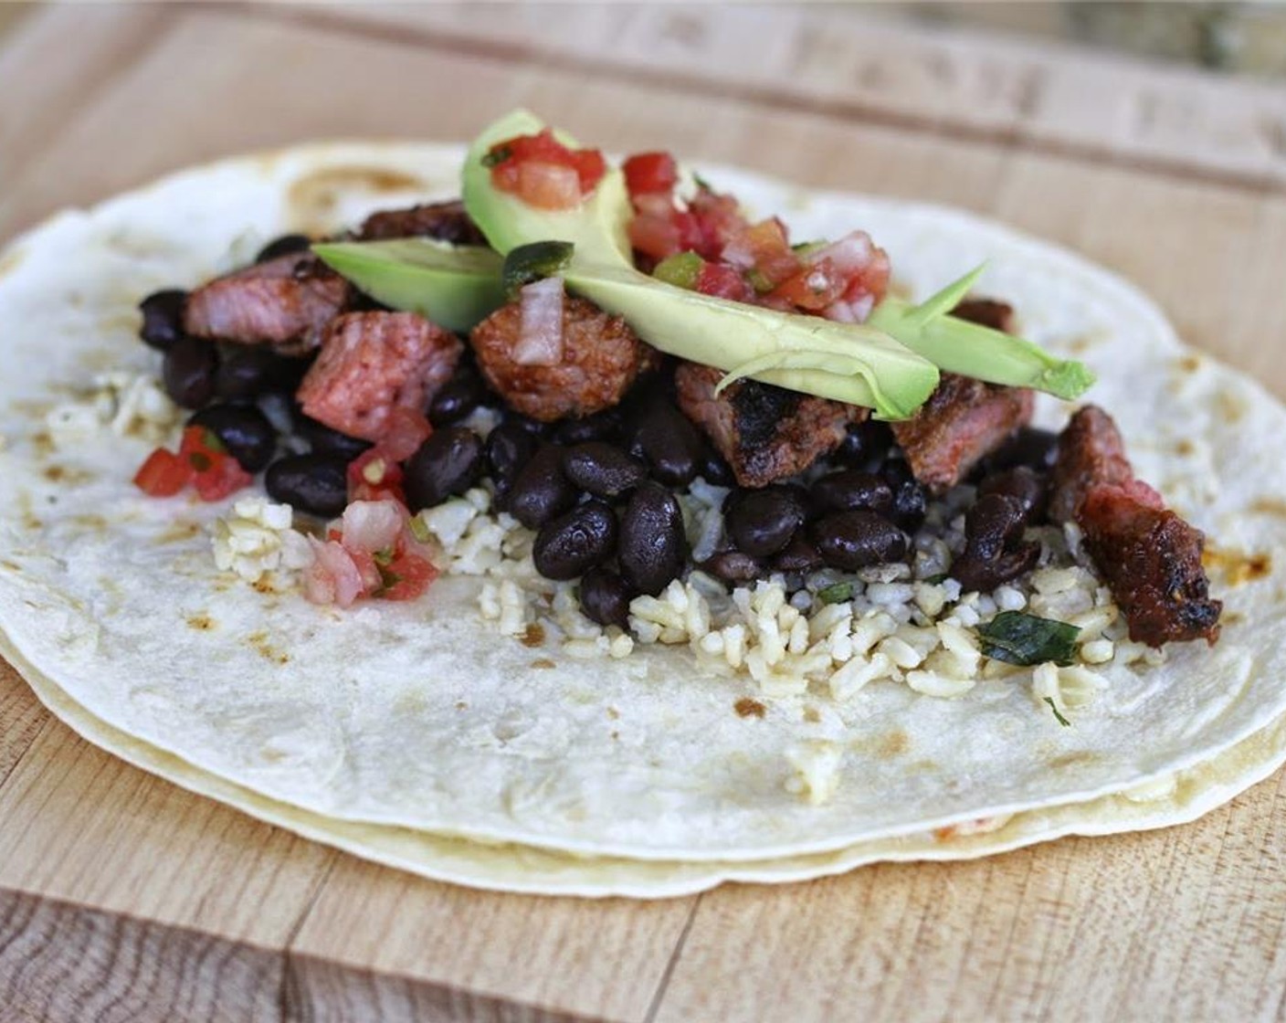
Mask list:
[[[624,319],[584,299],[563,300],[563,356],[557,364],[516,363],[521,333],[521,304],[509,302],[475,327],[469,340],[487,383],[511,408],[541,422],[611,408],[658,360],[656,349]]]

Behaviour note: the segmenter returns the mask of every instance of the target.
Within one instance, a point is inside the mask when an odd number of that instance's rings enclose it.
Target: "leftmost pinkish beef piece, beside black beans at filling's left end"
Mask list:
[[[310,252],[294,252],[219,277],[188,296],[183,328],[195,337],[273,345],[300,355],[322,344],[345,308],[349,282]]]

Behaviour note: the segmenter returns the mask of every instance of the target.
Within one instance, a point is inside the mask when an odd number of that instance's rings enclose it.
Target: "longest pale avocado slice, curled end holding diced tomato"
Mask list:
[[[567,286],[625,318],[648,344],[684,359],[792,390],[868,405],[881,418],[910,416],[937,386],[937,367],[877,328],[832,323],[714,299],[634,269],[625,178],[611,169],[571,210],[538,210],[491,185],[491,147],[534,135],[544,122],[514,111],[482,131],[463,170],[464,207],[500,253],[541,241],[571,242]],[[556,133],[567,145],[575,140]]]

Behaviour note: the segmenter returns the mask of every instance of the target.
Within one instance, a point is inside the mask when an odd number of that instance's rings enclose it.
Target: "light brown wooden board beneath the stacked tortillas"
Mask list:
[[[950,202],[1286,395],[1286,90],[827,6],[75,6],[0,49],[0,237],[198,160],[583,138]],[[422,881],[143,775],[0,665],[0,1020],[1286,1018],[1283,775],[1199,824],[634,903]]]

